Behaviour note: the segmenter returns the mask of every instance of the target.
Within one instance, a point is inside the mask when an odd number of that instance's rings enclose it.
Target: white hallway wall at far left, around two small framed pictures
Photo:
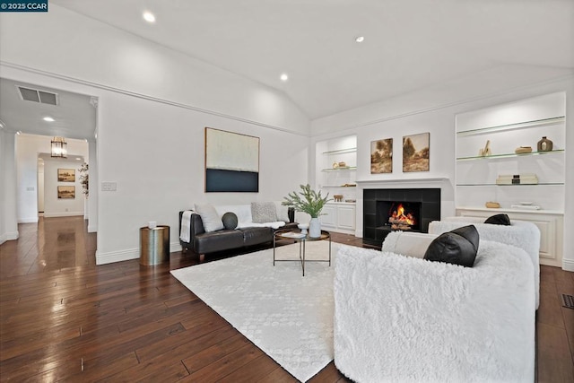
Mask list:
[[[19,223],[38,222],[38,156],[50,152],[51,137],[45,135],[16,135],[16,186],[17,186],[17,220]],[[74,154],[83,159],[88,158],[88,144],[81,140],[67,139],[68,159],[45,161],[44,167],[44,212],[46,216],[83,215],[83,195],[78,194],[76,172],[75,201],[57,200],[57,185],[66,185],[56,181],[57,168],[80,167],[82,161],[75,161]],[[72,185],[72,184],[70,184]],[[68,209],[67,211],[65,209]]]

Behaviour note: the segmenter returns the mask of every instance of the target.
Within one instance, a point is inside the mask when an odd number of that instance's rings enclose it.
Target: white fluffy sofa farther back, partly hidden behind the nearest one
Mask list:
[[[510,226],[505,226],[484,223],[484,218],[478,217],[448,217],[429,223],[429,233],[442,234],[468,224],[474,224],[481,239],[506,243],[526,251],[534,266],[535,305],[538,309],[540,303],[540,230],[538,227],[526,221],[512,220]]]

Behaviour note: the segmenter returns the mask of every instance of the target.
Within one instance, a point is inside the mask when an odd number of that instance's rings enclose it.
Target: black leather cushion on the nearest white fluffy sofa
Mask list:
[[[424,259],[472,267],[478,251],[479,235],[474,225],[442,233],[431,242]]]

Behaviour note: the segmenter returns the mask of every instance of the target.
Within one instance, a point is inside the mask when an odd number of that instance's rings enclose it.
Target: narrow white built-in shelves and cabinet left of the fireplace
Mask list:
[[[319,217],[326,231],[354,234],[357,170],[356,135],[337,137],[316,145],[317,188],[329,198],[342,196],[341,202],[331,201]]]

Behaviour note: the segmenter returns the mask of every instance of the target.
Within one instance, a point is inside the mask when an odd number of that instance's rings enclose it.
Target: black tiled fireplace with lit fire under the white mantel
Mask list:
[[[391,231],[428,232],[431,221],[440,220],[440,188],[363,190],[365,243],[380,246]]]

